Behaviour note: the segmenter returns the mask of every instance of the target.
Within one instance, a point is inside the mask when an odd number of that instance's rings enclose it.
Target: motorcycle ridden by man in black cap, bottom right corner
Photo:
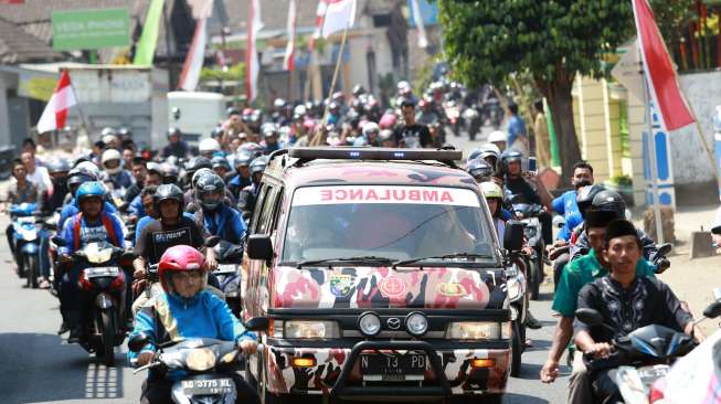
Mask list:
[[[721,302],[713,302],[704,311],[704,318],[721,315]],[[603,322],[601,313],[594,309],[582,308],[575,311],[576,318],[589,326],[612,329]],[[695,325],[703,318],[695,321]],[[614,369],[612,379],[626,403],[647,403],[651,385],[666,376],[671,365],[691,352],[697,343],[692,337],[670,328],[650,325],[642,327],[625,337],[612,341],[614,352],[604,359],[593,359],[584,354],[583,360],[592,375]],[[596,392],[597,393],[597,392]]]

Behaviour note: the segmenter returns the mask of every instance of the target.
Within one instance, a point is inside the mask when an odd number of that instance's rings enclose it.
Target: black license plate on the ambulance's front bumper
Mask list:
[[[423,353],[362,354],[361,373],[365,381],[423,380],[425,362],[426,357]]]

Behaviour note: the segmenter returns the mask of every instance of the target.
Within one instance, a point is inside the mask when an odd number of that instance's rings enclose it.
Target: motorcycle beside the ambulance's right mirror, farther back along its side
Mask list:
[[[509,199],[512,203],[513,198]],[[523,233],[528,245],[533,248],[534,254],[529,257],[526,275],[528,276],[528,286],[532,300],[538,300],[541,284],[543,283],[543,254],[545,244],[543,243],[543,232],[538,215],[543,213],[543,206],[539,204],[513,203],[513,214],[526,225]]]

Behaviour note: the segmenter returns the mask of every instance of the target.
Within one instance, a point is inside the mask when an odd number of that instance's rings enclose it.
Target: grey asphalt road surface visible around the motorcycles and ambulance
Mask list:
[[[487,131],[486,134],[487,135]],[[485,139],[485,136],[479,137]],[[466,153],[483,141],[467,137],[453,138]],[[0,219],[2,228],[7,225]],[[0,242],[0,402],[14,403],[137,403],[144,373],[134,375],[125,360],[126,348],[116,352],[117,365],[97,364],[78,345],[68,345],[56,336],[60,326],[57,299],[46,290],[22,287],[12,270],[12,261],[4,242]],[[550,286],[544,286],[550,290]],[[547,290],[547,291],[548,291]],[[531,309],[544,327],[530,331],[533,347],[523,355],[520,378],[511,379],[506,403],[562,403],[565,397],[568,370],[551,385],[543,385],[538,374],[545,360],[553,332],[550,295],[533,301]]]

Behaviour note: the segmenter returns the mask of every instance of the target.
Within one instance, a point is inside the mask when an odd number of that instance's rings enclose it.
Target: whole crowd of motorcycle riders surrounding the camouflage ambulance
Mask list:
[[[157,152],[136,145],[127,130],[108,128],[88,153],[40,161],[28,139],[12,163],[6,209],[13,217],[7,238],[18,270],[35,277],[32,285],[57,293],[59,333],[67,332],[70,343],[83,343],[87,322],[94,320],[83,274],[88,267],[102,268],[86,249],[123,249],[129,258],[125,263],[120,255],[99,263],[120,268],[120,332],[150,333],[156,344],[182,337],[237,341],[251,353],[256,337],[222,298],[213,272],[223,254],[212,241],[242,248],[268,155],[294,146],[447,147],[446,134],[466,131],[474,138],[481,126],[498,128],[502,119],[492,89],[471,94],[455,83],[436,82],[418,97],[402,82],[397,91],[385,111],[361,86],[350,99],[336,93],[324,105],[276,99],[267,114],[231,108],[227,119],[197,147],[170,128],[168,145]],[[474,108],[475,114],[468,113]],[[517,111],[512,105],[510,110]],[[462,130],[462,125],[467,127]],[[607,372],[590,374],[581,352],[607,357],[613,338],[659,321],[698,340],[703,336],[672,291],[655,278],[670,264],[653,240],[626,221],[623,198],[594,184],[593,167],[583,161],[570,173],[573,190],[553,198],[538,171],[527,167],[527,134],[519,130],[491,134],[468,156],[466,170],[486,196],[499,240],[509,221],[526,223],[524,255],[517,264],[529,284],[536,284],[529,290],[538,290],[543,267],[552,261],[553,310],[561,317],[541,381],[559,376],[561,357],[574,339],[580,351],[573,355],[569,401],[615,400],[618,391]],[[554,213],[563,219],[555,241]],[[19,235],[21,223],[14,217],[23,216],[41,219],[36,241]],[[36,262],[23,261],[26,243],[38,245]],[[237,255],[233,259],[237,263]],[[28,265],[36,265],[36,273],[28,273]],[[579,308],[597,310],[614,331],[583,325],[575,318]],[[524,327],[541,327],[530,311],[524,318]],[[146,365],[156,351],[147,344],[129,358]],[[151,373],[144,402],[168,402],[173,378]],[[241,378],[233,381],[243,402],[257,402]]]

